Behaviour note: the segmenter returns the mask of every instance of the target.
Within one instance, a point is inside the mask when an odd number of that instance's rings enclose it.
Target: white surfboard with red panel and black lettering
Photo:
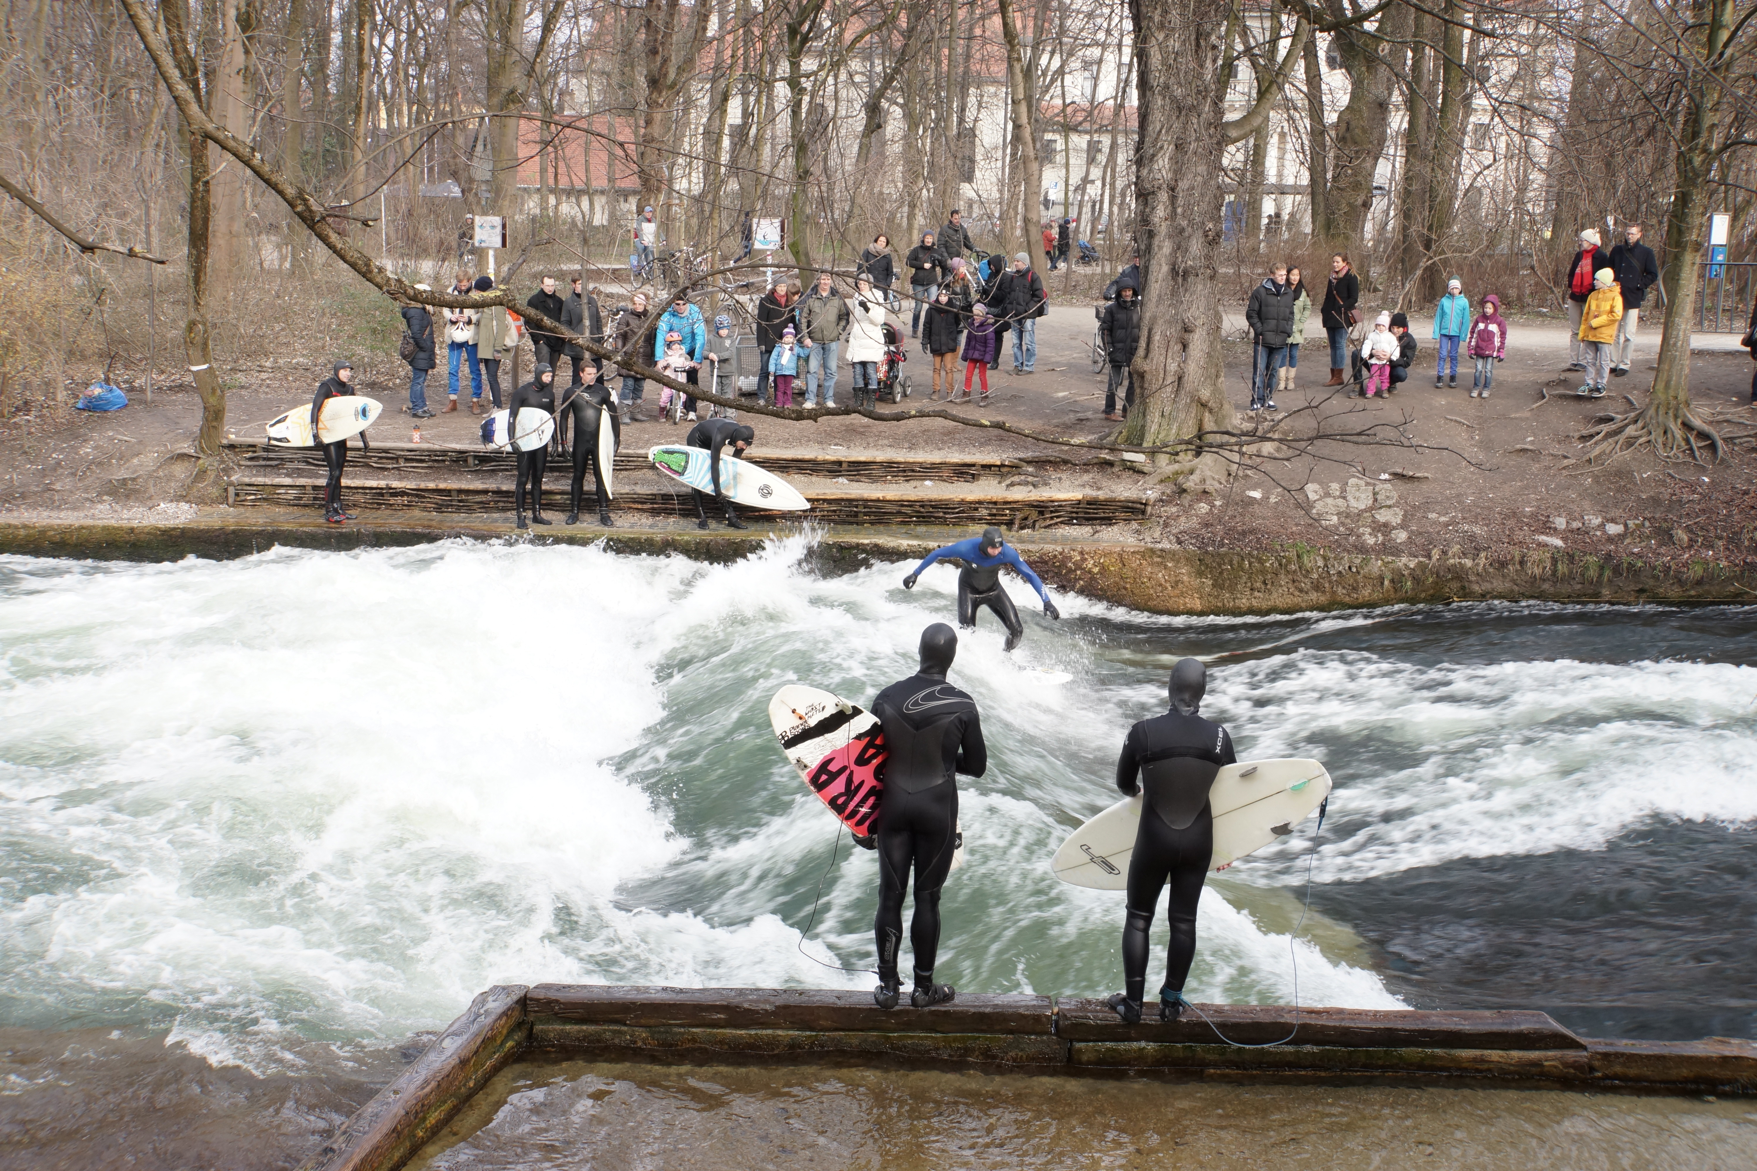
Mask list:
[[[770,700],[770,727],[806,788],[852,832],[870,836],[884,802],[889,751],[878,716],[815,686],[789,683]],[[965,864],[965,827],[956,825],[952,869]]]

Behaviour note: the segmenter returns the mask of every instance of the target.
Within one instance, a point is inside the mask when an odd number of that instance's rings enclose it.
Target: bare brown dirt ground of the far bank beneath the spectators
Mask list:
[[[1725,460],[1708,467],[1662,463],[1652,455],[1625,456],[1604,469],[1569,467],[1581,453],[1576,437],[1595,414],[1629,409],[1630,399],[1643,400],[1652,381],[1648,367],[1657,332],[1643,339],[1634,374],[1615,379],[1611,393],[1594,402],[1573,395],[1578,376],[1564,369],[1564,334],[1539,321],[1522,334],[1516,321],[1493,397],[1483,400],[1469,397],[1469,374],[1457,390],[1434,388],[1434,344],[1425,321],[1414,325],[1421,353],[1413,377],[1383,402],[1346,399],[1321,388],[1328,355],[1321,341],[1307,342],[1298,388],[1279,397],[1279,427],[1309,427],[1312,416],[1328,418],[1332,430],[1392,425],[1425,448],[1325,442],[1286,462],[1258,463],[1218,493],[1161,488],[1144,521],[1056,532],[1204,550],[1304,542],[1342,553],[1427,557],[1430,550],[1478,555],[1541,548],[1634,555],[1630,546],[1639,546],[1639,557],[1650,562],[1708,557],[1746,565],[1757,558],[1752,439],[1736,442]],[[991,406],[965,411],[1086,441],[1114,434],[1114,425],[1102,416],[1105,377],[1093,374],[1089,365],[1093,330],[1088,304],[1054,307],[1040,321],[1037,372],[1012,374],[1007,353],[989,376]],[[1253,423],[1242,411],[1249,402],[1249,346],[1233,330],[1228,339],[1226,390],[1240,409],[1239,427],[1267,428],[1267,416]],[[1701,339],[1692,358],[1692,393],[1697,406],[1727,420],[1729,434],[1752,435],[1757,434],[1757,411],[1748,404],[1752,360],[1724,342],[1718,335]],[[358,367],[360,390],[387,407],[372,437],[409,441],[413,420],[402,413],[408,369],[394,355],[350,356]],[[529,353],[525,358],[529,369]],[[239,437],[260,435],[267,420],[309,402],[329,363],[330,355],[300,355],[228,365],[228,430]],[[912,349],[907,372],[915,383],[910,406],[924,404],[931,383],[926,355]],[[90,379],[98,370],[83,374]],[[849,383],[843,365],[838,400],[849,399]],[[467,411],[467,384],[466,374],[462,411],[422,421],[423,442],[480,446],[481,420]],[[32,414],[0,421],[0,520],[176,521],[225,513],[218,478],[195,478],[192,485],[190,444],[199,421],[193,386],[186,381],[160,386],[151,406],[141,388],[128,390],[130,407],[114,414],[39,406]],[[439,369],[429,376],[429,404],[443,407],[445,399],[446,372]],[[647,402],[648,411],[655,409],[652,390]],[[794,423],[745,418],[757,428],[759,458],[763,453],[1082,455],[940,420]],[[638,451],[680,442],[683,432],[685,427],[661,421],[634,423],[624,434],[624,448]],[[1110,463],[1047,465],[1033,476],[1035,483],[1016,483],[1005,492],[1021,499],[1044,490],[1140,495],[1147,486],[1139,472]],[[924,485],[919,488],[928,492]],[[372,516],[362,514],[357,523],[371,525]],[[631,514],[620,523],[640,527],[643,520]]]

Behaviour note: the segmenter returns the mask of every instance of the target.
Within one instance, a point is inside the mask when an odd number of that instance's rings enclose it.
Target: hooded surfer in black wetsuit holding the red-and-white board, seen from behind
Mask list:
[[[884,727],[889,753],[878,829],[871,839],[856,839],[878,850],[878,1008],[896,1008],[901,994],[898,946],[903,939],[903,894],[908,871],[915,871],[915,916],[908,945],[915,959],[915,1008],[944,1004],[956,995],[951,985],[933,983],[933,960],[940,952],[940,887],[958,850],[956,772],[982,776],[987,746],[982,718],[965,692],[945,681],[958,655],[958,632],[936,621],[921,632],[921,671],[878,692],[871,713]]]

